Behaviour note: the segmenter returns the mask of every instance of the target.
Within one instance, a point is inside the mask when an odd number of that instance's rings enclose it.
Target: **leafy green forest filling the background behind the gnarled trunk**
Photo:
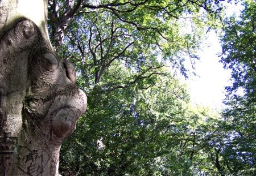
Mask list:
[[[49,1],[52,44],[88,96],[61,175],[256,174],[256,2],[228,3],[240,16],[217,0]],[[210,31],[231,73],[218,111],[192,106],[179,79]]]

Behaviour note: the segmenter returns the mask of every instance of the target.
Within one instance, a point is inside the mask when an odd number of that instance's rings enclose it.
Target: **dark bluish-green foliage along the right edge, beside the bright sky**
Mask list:
[[[225,20],[222,37],[221,62],[232,70],[233,85],[227,87],[228,96],[223,117],[226,143],[223,148],[225,165],[230,171],[255,174],[255,1],[245,1],[239,17]]]

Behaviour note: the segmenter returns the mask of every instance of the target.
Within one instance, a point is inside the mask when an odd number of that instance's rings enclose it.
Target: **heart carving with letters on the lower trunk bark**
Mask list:
[[[31,151],[27,147],[20,146],[18,167],[28,175],[43,175],[43,169],[49,161],[49,154],[43,149]]]

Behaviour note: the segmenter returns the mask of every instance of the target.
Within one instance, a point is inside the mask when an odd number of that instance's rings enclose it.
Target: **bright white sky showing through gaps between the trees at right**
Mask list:
[[[241,5],[229,4],[226,8],[226,16],[238,14]],[[191,96],[192,105],[209,106],[212,109],[220,109],[224,105],[225,86],[230,85],[230,70],[225,70],[218,53],[221,45],[214,31],[208,33],[207,45],[198,51],[200,61],[195,65],[197,76],[191,76],[185,80],[188,92]]]

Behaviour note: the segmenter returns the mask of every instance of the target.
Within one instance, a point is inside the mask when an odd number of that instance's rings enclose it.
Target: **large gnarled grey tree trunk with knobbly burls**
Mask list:
[[[47,5],[0,0],[0,175],[58,175],[61,143],[86,109],[49,42]]]

